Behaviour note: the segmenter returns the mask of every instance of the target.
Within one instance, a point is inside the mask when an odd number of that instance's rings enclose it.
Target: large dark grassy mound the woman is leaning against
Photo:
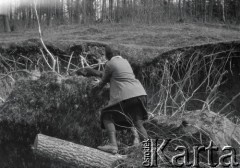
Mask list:
[[[31,143],[36,133],[42,132],[97,146],[101,142],[101,130],[96,110],[106,104],[107,93],[103,92],[102,97],[92,93],[93,81],[93,78],[62,77],[53,72],[44,73],[35,81],[17,81],[0,110],[1,130],[6,132],[1,140],[15,141],[17,137]]]

